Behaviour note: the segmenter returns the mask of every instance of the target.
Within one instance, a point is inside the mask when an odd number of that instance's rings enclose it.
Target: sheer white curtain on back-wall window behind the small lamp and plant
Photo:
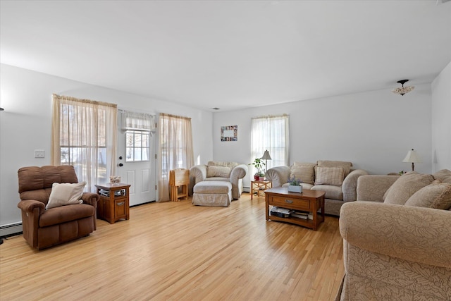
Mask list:
[[[273,166],[290,165],[289,116],[261,116],[252,118],[251,162],[261,158],[267,149],[271,155],[267,170]],[[263,160],[265,161],[265,160]],[[254,175],[253,170],[249,175]]]

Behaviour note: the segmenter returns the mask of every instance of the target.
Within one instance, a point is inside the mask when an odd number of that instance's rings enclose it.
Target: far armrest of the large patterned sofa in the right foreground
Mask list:
[[[400,176],[368,175],[357,179],[357,201],[383,202],[385,191]]]

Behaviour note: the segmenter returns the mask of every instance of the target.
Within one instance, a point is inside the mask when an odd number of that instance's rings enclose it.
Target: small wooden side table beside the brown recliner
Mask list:
[[[108,183],[96,185],[99,202],[97,203],[97,219],[115,223],[120,219],[130,219],[129,184]]]

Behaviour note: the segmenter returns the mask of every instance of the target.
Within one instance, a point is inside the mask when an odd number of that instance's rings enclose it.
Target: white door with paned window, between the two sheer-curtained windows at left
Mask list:
[[[130,206],[156,199],[155,139],[152,133],[123,130],[118,114],[118,175],[130,184]]]

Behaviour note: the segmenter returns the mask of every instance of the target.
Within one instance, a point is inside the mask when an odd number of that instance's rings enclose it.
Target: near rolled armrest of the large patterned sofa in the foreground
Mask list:
[[[409,262],[451,268],[450,229],[448,210],[378,202],[350,202],[340,209],[345,243]]]

